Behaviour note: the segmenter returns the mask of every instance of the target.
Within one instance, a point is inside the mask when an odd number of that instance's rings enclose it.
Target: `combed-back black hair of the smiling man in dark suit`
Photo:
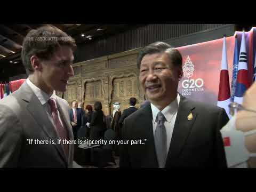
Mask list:
[[[171,45],[164,42],[155,42],[144,47],[144,49],[140,51],[137,58],[138,68],[140,69],[141,61],[146,54],[154,54],[154,53],[162,53],[162,52],[166,52],[169,55],[169,58],[173,66],[182,66],[182,56],[177,49],[175,49]]]

